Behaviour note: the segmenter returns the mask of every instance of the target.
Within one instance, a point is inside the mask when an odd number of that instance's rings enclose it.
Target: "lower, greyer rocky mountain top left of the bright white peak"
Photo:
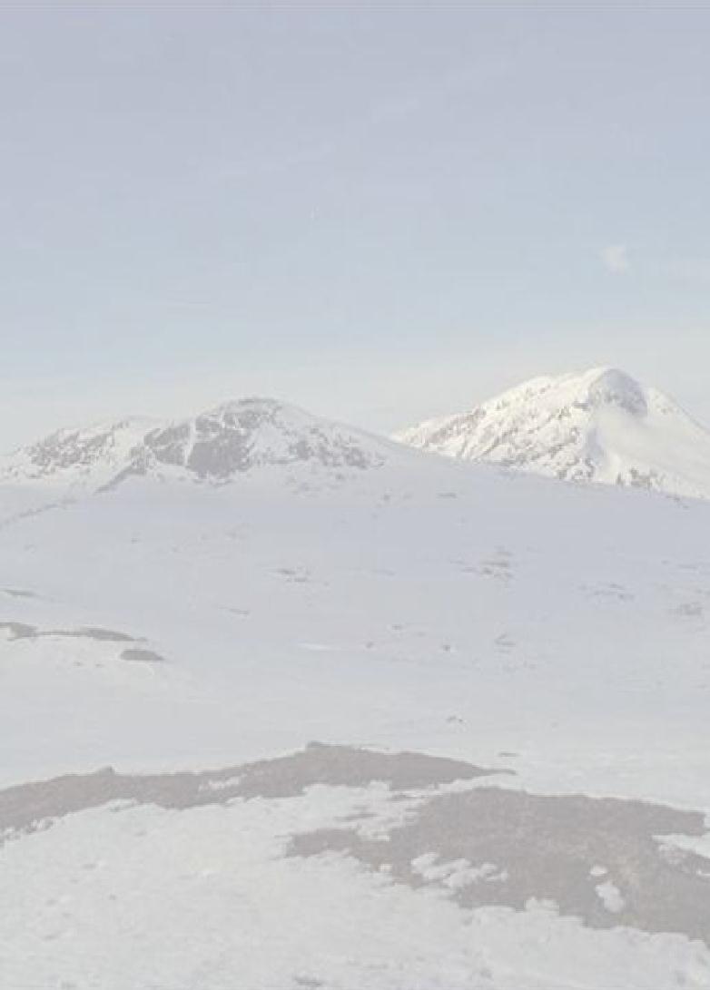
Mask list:
[[[0,477],[78,488],[113,487],[146,474],[222,482],[269,466],[362,471],[384,463],[385,451],[386,443],[347,427],[252,398],[175,423],[124,420],[59,431],[7,458]]]

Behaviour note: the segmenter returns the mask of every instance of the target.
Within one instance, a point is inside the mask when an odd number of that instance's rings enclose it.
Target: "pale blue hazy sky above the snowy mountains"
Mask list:
[[[710,421],[710,4],[533,6],[6,8],[3,446],[601,363]]]

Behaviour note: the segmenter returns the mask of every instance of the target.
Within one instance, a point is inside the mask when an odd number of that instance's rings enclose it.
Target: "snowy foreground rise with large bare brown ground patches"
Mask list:
[[[708,923],[704,860],[651,835],[697,832],[701,816],[530,798],[491,788],[485,768],[405,757],[398,772],[398,757],[366,755],[317,747],[285,768],[104,772],[0,795],[6,985],[707,985],[707,946],[677,931]],[[476,779],[436,783],[456,773]],[[23,802],[51,824],[11,833]]]

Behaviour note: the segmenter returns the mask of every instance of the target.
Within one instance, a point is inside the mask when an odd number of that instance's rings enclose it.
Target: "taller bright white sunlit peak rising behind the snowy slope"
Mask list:
[[[534,378],[395,439],[569,481],[710,498],[710,431],[615,368]]]

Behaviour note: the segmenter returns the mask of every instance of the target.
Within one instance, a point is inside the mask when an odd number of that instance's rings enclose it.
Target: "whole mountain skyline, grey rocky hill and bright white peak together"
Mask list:
[[[146,475],[221,484],[264,469],[284,469],[292,480],[342,481],[411,448],[710,499],[710,431],[658,389],[610,367],[539,376],[391,439],[258,396],[175,420],[124,417],[19,448],[0,459],[0,481],[81,492]]]

